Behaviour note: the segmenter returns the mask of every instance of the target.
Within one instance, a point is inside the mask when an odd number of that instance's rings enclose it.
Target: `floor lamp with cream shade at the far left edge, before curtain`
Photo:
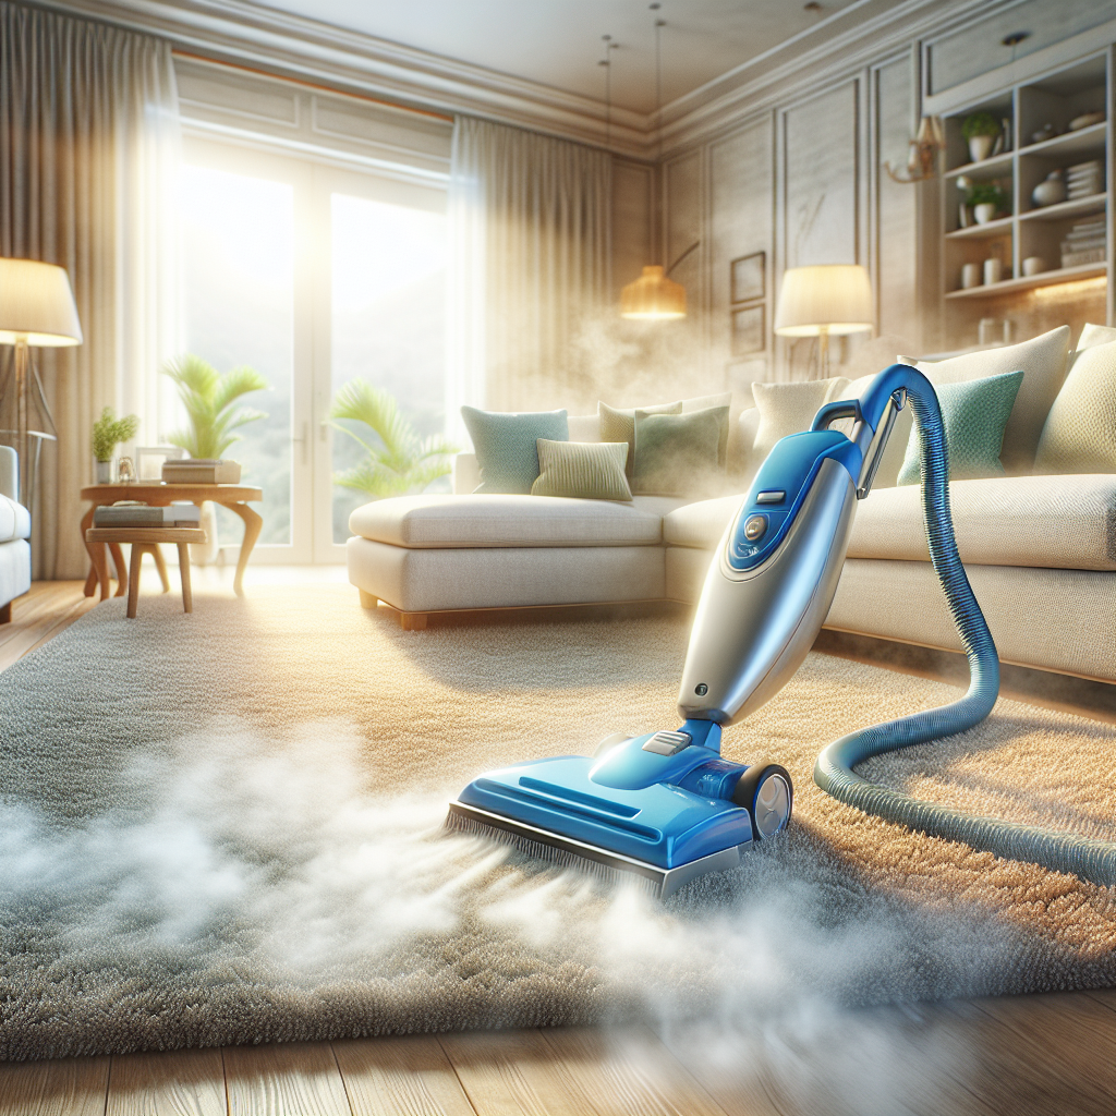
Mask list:
[[[81,344],[69,277],[62,268],[38,260],[0,259],[0,345],[16,346],[16,452],[19,454],[20,502],[27,502],[28,348]],[[41,391],[41,385],[40,385]]]

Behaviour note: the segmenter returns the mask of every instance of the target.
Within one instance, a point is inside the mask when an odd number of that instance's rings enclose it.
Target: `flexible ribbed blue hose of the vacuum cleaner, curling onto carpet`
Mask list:
[[[995,856],[1029,860],[1055,872],[1071,873],[1110,886],[1116,883],[1116,845],[1109,841],[962,814],[876,786],[853,770],[873,756],[971,729],[992,711],[1000,691],[1000,658],[961,565],[953,537],[942,412],[930,382],[914,369],[910,372],[912,375],[899,373],[897,366],[888,369],[904,381],[903,386],[918,424],[922,506],[930,558],[945,590],[953,623],[969,658],[969,691],[951,705],[913,713],[841,737],[818,756],[814,781],[834,798],[887,821],[932,837],[964,841]]]

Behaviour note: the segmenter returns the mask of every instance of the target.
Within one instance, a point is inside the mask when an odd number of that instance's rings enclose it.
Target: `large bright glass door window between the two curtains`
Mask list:
[[[191,141],[182,198],[186,346],[271,385],[228,451],[263,490],[253,558],[343,560],[371,498],[333,483],[362,454],[329,424],[337,388],[362,377],[421,436],[445,425],[444,192]],[[241,535],[221,521],[223,546]]]

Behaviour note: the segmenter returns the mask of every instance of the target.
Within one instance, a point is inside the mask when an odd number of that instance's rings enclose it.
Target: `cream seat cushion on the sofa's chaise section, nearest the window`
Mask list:
[[[411,549],[444,547],[656,546],[663,516],[679,500],[532,496],[404,496],[375,500],[349,516],[354,535]]]

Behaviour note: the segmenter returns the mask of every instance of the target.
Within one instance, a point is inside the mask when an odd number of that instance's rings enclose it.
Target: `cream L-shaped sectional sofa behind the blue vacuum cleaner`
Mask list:
[[[752,437],[756,413],[744,411],[739,425]],[[594,427],[595,416],[571,417],[570,437],[596,441]],[[461,454],[454,494],[353,513],[348,574],[365,607],[383,600],[413,628],[454,610],[692,603],[747,490],[742,481],[720,499],[637,496],[627,504],[470,494],[478,483],[475,459]],[[961,557],[1001,657],[1116,682],[1116,474],[954,481],[951,498]],[[826,626],[960,650],[929,559],[918,485],[877,487],[857,509]]]

